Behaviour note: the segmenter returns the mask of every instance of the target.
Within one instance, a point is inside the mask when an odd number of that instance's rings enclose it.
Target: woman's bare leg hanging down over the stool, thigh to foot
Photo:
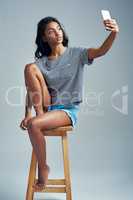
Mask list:
[[[46,112],[44,115],[33,117],[28,122],[28,132],[31,134],[31,139],[33,139],[33,144],[37,146],[36,154],[40,169],[40,179],[39,183],[35,185],[35,188],[42,189],[45,187],[48,180],[49,169],[46,166],[46,152],[44,156],[42,145],[42,140],[45,135],[45,130],[49,128],[56,128],[60,126],[70,125],[71,120],[69,116],[64,111],[50,111]],[[41,139],[42,138],[42,139]]]

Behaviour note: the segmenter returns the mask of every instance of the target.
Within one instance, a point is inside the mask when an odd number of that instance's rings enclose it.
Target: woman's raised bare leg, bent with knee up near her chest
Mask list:
[[[51,97],[47,89],[46,82],[35,64],[25,67],[25,84],[34,106],[36,115],[44,113],[44,109],[51,104]]]

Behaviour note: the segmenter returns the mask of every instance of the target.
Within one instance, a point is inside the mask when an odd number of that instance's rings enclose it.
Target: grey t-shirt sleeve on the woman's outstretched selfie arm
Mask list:
[[[88,56],[88,48],[79,47],[80,60],[83,65],[91,65],[94,59],[90,59]]]

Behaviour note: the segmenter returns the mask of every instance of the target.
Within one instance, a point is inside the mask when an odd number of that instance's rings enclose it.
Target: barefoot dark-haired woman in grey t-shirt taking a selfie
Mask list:
[[[111,31],[104,43],[98,48],[81,48],[68,47],[68,37],[56,18],[46,17],[38,23],[36,60],[27,64],[24,71],[27,101],[25,118],[20,124],[23,130],[28,130],[37,156],[38,182],[34,186],[37,189],[45,187],[50,171],[46,162],[45,130],[75,126],[82,102],[83,66],[103,56],[119,32],[115,20],[106,20],[104,25]]]

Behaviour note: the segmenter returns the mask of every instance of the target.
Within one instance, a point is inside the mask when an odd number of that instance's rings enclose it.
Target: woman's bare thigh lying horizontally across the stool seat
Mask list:
[[[32,118],[31,123],[43,131],[60,126],[71,125],[71,119],[63,110],[52,110],[42,116]]]

